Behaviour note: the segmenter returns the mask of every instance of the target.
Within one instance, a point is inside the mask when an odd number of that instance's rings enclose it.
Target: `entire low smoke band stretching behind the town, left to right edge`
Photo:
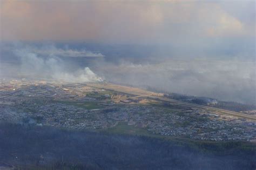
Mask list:
[[[12,77],[18,75],[17,77],[22,78],[50,78],[76,83],[105,79],[117,84],[151,88],[167,93],[212,97],[247,104],[256,103],[255,60],[242,60],[242,58],[181,60],[158,57],[134,61],[129,56],[119,57],[120,59],[111,58],[111,53],[106,57],[63,57],[64,55],[59,53],[53,55],[50,52],[52,49],[83,52],[68,47],[44,45],[9,47],[8,50],[14,52],[21,63],[18,66],[10,62],[2,63],[1,77],[9,74]],[[87,59],[92,62],[88,62]]]

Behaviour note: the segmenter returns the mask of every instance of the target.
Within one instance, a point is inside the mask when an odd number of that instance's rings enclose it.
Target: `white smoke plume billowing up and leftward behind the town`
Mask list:
[[[89,67],[73,73],[66,71],[63,60],[54,55],[48,58],[38,57],[37,53],[31,52],[28,48],[15,50],[15,54],[21,58],[21,77],[50,78],[70,83],[103,81]]]

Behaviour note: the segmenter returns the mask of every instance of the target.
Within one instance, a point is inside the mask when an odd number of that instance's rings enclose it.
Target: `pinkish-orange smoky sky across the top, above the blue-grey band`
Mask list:
[[[195,44],[255,38],[254,28],[246,0],[1,1],[3,40]]]

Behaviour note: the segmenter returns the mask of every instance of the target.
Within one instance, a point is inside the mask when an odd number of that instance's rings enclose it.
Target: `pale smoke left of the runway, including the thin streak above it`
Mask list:
[[[1,77],[13,78],[45,78],[70,83],[95,82],[103,79],[93,73],[89,67],[68,70],[69,63],[64,62],[63,56],[79,57],[91,54],[90,57],[98,57],[99,54],[90,51],[76,51],[70,49],[57,49],[53,46],[43,47],[44,50],[36,47],[26,46],[25,48],[10,48],[10,54],[14,55],[15,62],[5,60],[0,65]],[[101,57],[101,56],[100,56]],[[74,65],[75,66],[75,65]]]

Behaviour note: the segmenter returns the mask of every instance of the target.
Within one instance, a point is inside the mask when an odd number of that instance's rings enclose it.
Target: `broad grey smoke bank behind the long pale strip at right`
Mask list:
[[[114,83],[193,96],[255,104],[255,62],[167,60],[160,63],[104,64],[97,72]]]

